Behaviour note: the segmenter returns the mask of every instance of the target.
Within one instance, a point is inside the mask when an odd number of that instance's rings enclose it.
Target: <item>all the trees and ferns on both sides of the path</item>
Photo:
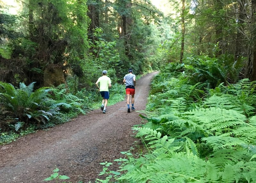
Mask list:
[[[102,70],[116,101],[159,70],[116,180],[256,182],[255,0],[0,2],[1,143],[91,109]]]

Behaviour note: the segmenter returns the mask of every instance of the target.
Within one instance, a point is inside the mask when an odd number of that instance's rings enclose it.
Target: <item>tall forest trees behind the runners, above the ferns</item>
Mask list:
[[[164,13],[151,1],[13,2],[1,1],[2,82],[90,90],[102,69],[116,82],[191,55],[255,80],[254,1],[166,1]]]

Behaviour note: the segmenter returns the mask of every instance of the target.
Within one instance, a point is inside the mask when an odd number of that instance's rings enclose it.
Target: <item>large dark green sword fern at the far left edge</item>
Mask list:
[[[48,112],[49,108],[43,104],[50,90],[40,88],[33,91],[34,84],[35,82],[26,86],[20,83],[19,89],[15,89],[11,84],[0,82],[2,104],[21,122],[36,120],[38,123],[44,123],[52,116],[52,113]]]

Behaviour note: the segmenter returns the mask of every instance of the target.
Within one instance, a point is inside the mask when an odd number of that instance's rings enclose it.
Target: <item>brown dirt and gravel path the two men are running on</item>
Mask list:
[[[136,110],[145,109],[150,80],[156,73],[136,81]],[[42,183],[56,167],[61,175],[70,177],[67,182],[94,182],[102,171],[99,163],[113,162],[122,157],[121,151],[130,149],[136,140],[131,127],[140,122],[139,113],[127,113],[126,102],[121,101],[108,106],[106,114],[93,110],[48,131],[0,146],[0,182]]]

